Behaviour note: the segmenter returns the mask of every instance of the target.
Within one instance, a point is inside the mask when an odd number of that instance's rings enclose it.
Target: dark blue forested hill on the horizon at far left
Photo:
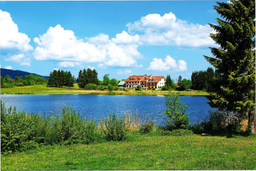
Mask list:
[[[15,79],[15,76],[29,76],[30,74],[33,74],[35,76],[40,76],[38,74],[34,74],[34,73],[29,73],[29,72],[23,72],[22,70],[11,70],[11,69],[3,69],[1,68],[1,76],[4,78],[6,75],[9,75],[10,77],[12,77],[12,79]],[[48,80],[48,76],[40,76],[40,77],[44,77],[44,79]]]

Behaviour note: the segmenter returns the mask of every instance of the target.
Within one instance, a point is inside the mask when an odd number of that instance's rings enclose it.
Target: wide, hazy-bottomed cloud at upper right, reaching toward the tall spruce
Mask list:
[[[215,45],[209,37],[209,33],[214,30],[208,24],[188,23],[177,19],[170,12],[161,16],[159,14],[149,14],[141,17],[134,23],[128,23],[128,32],[143,32],[140,35],[142,44],[148,45],[177,45],[181,47],[209,47]]]

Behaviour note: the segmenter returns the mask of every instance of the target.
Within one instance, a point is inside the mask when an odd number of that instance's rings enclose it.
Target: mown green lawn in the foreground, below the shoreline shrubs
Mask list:
[[[1,155],[1,170],[255,170],[250,137],[131,133],[126,141],[41,147]]]

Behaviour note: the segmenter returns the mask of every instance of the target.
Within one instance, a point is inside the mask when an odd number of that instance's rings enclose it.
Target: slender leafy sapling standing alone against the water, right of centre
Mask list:
[[[189,126],[189,115],[186,114],[187,105],[179,101],[180,97],[176,93],[169,92],[165,98],[166,111],[163,112],[168,116],[168,124],[173,129],[186,129]]]

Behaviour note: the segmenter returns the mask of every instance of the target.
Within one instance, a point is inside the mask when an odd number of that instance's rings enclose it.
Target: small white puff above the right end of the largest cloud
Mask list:
[[[111,42],[115,44],[138,44],[140,41],[140,35],[136,34],[134,36],[129,35],[126,31],[120,34],[116,34],[116,38],[111,38]]]

